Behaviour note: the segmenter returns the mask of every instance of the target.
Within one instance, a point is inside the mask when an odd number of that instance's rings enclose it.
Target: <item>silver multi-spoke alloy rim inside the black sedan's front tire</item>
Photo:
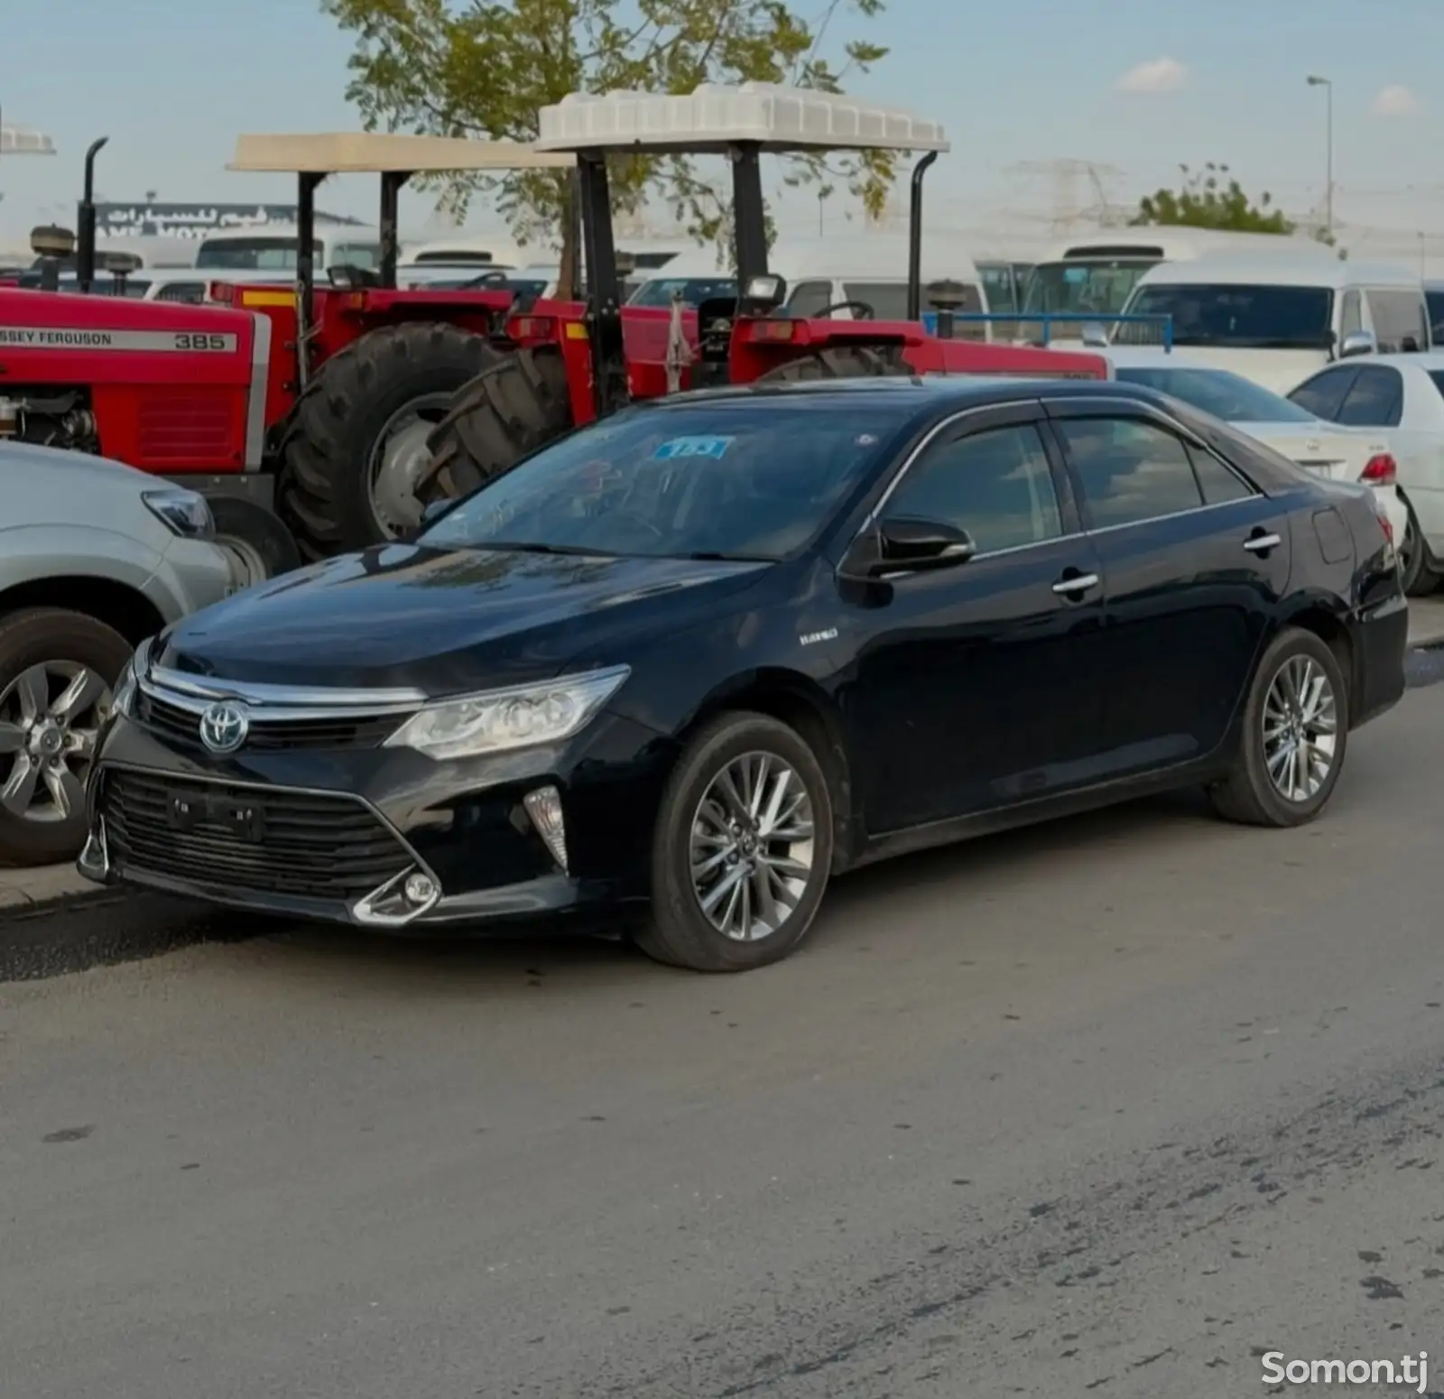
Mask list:
[[[814,817],[807,787],[770,752],[732,758],[692,817],[692,889],[723,937],[751,943],[796,912],[813,875]]]

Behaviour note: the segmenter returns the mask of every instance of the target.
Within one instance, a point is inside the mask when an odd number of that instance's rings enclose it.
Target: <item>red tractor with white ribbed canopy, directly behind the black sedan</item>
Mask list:
[[[690,95],[573,95],[540,113],[539,152],[578,162],[589,300],[517,309],[507,338],[517,347],[456,398],[432,433],[432,469],[445,495],[468,491],[524,453],[632,398],[708,384],[856,375],[1009,374],[1108,378],[1096,354],[1063,354],[952,338],[960,287],[928,289],[939,334],[920,312],[923,179],[949,149],[937,123],[852,98],[745,84]],[[911,178],[908,321],[874,319],[872,308],[829,306],[809,319],[781,312],[787,287],[768,274],[762,152],[826,154],[884,149],[920,153]],[[622,306],[612,240],[608,156],[702,154],[732,167],[732,232],[739,299],[696,310]],[[852,319],[833,319],[848,309]],[[423,494],[436,494],[427,488]]]

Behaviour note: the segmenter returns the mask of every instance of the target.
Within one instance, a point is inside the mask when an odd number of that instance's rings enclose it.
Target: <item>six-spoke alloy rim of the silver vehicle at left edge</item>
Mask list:
[[[78,661],[20,671],[0,692],[0,810],[27,821],[79,816],[110,706],[110,686]]]

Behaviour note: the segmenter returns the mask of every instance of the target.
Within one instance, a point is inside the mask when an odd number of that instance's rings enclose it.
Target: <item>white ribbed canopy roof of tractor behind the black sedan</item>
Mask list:
[[[950,146],[937,121],[901,107],[771,82],[703,84],[657,92],[572,92],[540,111],[536,149],[550,152],[725,153],[762,150],[931,150]]]

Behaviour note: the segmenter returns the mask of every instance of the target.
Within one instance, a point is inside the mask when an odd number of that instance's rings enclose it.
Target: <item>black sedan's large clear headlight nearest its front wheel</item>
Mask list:
[[[407,719],[386,746],[414,748],[443,761],[556,744],[585,728],[628,674],[631,667],[614,666],[544,684],[442,700]]]

